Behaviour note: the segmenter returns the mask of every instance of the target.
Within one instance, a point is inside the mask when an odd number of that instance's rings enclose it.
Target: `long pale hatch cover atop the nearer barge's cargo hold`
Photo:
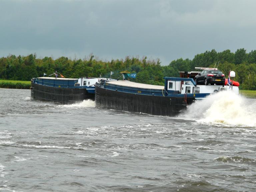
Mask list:
[[[134,88],[142,88],[142,89],[164,89],[164,86],[160,85],[148,85],[143,83],[135,83],[131,81],[125,81],[125,80],[119,80],[119,81],[107,81],[106,83],[112,84],[112,85],[119,85],[119,86],[125,86],[125,87],[134,87]]]

